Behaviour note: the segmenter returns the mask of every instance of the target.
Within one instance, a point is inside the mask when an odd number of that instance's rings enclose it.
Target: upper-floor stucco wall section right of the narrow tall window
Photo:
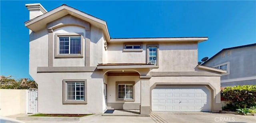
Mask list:
[[[152,71],[195,71],[197,43],[160,43],[159,68]]]

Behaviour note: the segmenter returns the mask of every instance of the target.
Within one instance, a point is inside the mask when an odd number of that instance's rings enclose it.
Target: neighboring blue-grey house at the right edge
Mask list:
[[[256,44],[222,49],[202,65],[224,69],[222,87],[256,85]]]

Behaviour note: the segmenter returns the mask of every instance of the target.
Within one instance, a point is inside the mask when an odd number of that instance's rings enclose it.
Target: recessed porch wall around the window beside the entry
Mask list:
[[[135,82],[134,101],[118,101],[116,82]],[[140,76],[108,76],[107,102],[109,109],[140,109]]]

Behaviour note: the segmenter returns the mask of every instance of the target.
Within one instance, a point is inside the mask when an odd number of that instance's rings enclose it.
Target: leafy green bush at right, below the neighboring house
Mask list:
[[[256,85],[238,85],[226,87],[221,92],[221,96],[229,101],[233,107],[250,108],[256,106]]]

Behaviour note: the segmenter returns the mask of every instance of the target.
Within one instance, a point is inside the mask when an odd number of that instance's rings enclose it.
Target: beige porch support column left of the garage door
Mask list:
[[[150,114],[150,75],[140,76],[140,114]]]

